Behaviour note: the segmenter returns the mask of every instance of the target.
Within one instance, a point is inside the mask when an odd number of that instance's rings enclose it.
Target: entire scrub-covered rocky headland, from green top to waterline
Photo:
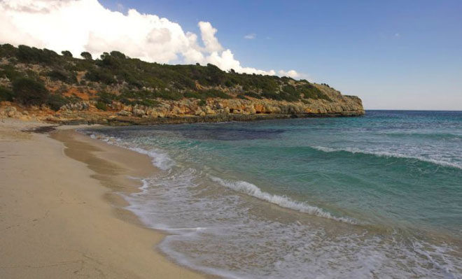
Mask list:
[[[364,113],[358,97],[307,80],[148,63],[118,51],[80,56],[0,45],[0,117],[155,124]]]

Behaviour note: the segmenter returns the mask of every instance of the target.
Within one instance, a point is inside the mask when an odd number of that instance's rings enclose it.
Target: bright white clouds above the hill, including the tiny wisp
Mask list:
[[[210,22],[198,23],[199,40],[197,34],[183,31],[165,17],[134,9],[123,14],[97,0],[0,0],[0,26],[0,43],[70,50],[76,57],[83,51],[97,57],[119,50],[148,62],[211,63],[223,71],[276,74],[241,66],[218,41],[218,30]],[[255,34],[248,36],[255,38]],[[277,74],[300,78],[294,70]]]

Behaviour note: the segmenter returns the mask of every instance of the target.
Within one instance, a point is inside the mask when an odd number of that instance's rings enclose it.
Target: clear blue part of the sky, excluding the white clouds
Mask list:
[[[462,1],[101,3],[167,17],[185,31],[211,22],[243,66],[295,69],[368,109],[462,110]]]

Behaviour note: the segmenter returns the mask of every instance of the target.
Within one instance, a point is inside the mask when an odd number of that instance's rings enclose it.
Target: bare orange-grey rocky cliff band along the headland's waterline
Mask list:
[[[78,101],[54,112],[46,106],[18,106],[3,102],[0,117],[62,123],[168,124],[183,122],[222,122],[279,119],[290,117],[357,116],[363,105],[356,96],[344,96],[325,85],[318,85],[331,99],[288,102],[271,99],[219,99],[205,103],[195,99],[158,100],[155,106],[125,105],[113,101],[106,111],[96,108],[97,101]]]

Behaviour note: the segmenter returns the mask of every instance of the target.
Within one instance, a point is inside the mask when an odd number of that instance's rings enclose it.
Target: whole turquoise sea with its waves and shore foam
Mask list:
[[[162,171],[126,196],[226,278],[462,278],[462,112],[92,129]]]

